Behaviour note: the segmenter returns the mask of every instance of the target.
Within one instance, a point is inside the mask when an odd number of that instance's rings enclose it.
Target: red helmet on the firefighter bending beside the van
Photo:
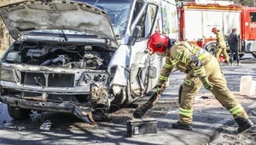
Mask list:
[[[154,54],[154,52],[164,53],[168,45],[169,37],[161,34],[154,33],[148,38],[148,49]]]

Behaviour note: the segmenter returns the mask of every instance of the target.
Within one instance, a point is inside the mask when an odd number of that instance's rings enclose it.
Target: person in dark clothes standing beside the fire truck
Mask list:
[[[236,56],[237,66],[239,66],[239,54],[238,54],[238,44],[239,44],[239,38],[236,35],[236,28],[232,29],[232,32],[230,33],[228,43],[230,45],[230,64],[233,66],[233,59],[234,59],[234,53]]]

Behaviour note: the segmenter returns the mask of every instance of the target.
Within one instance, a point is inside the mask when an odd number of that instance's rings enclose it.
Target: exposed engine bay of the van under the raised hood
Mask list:
[[[4,61],[49,67],[106,70],[113,51],[106,46],[85,44],[14,44]]]

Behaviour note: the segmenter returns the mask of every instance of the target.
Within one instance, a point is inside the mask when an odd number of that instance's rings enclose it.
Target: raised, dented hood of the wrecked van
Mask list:
[[[41,0],[13,3],[0,8],[1,17],[10,35],[36,30],[74,30],[109,38],[117,44],[108,14],[86,3],[62,0]]]

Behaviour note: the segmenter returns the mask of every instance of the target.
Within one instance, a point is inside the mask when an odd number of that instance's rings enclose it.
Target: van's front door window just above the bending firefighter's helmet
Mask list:
[[[154,4],[148,4],[147,9],[143,11],[143,16],[138,21],[137,26],[141,26],[142,31],[140,34],[140,38],[148,38],[152,32],[154,21],[156,17],[157,6]]]

